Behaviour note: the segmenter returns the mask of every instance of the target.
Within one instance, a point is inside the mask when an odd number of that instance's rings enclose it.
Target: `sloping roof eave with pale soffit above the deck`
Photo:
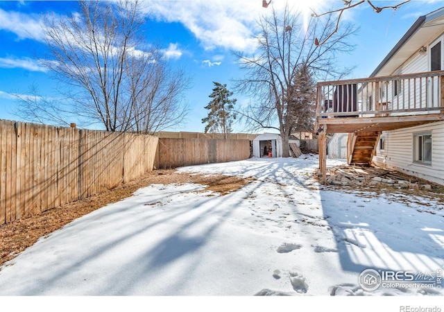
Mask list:
[[[404,62],[444,30],[444,8],[419,17],[370,77],[391,76]]]

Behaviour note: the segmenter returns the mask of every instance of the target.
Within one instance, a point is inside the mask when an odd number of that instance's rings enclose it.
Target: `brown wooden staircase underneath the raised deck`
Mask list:
[[[347,162],[355,165],[370,165],[376,153],[381,131],[355,132],[348,134]]]

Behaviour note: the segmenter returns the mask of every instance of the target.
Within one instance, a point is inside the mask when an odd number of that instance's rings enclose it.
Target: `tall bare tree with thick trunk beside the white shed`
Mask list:
[[[252,128],[279,130],[283,157],[289,157],[291,131],[312,118],[314,85],[310,82],[339,79],[351,70],[339,68],[335,55],[353,49],[347,39],[356,29],[345,24],[329,41],[316,46],[314,38],[330,35],[336,27],[335,21],[330,17],[310,19],[305,30],[301,20],[302,16],[289,6],[282,12],[273,8],[271,16],[258,21],[256,53],[234,53],[241,69],[246,71],[245,77],[237,81],[237,90],[253,98],[253,104],[248,105],[241,116]],[[311,78],[309,81],[302,78],[307,75]],[[305,89],[304,94],[298,94],[302,89]]]

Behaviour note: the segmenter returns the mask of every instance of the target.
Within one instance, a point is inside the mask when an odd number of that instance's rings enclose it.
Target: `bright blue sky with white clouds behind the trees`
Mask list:
[[[285,3],[272,1],[276,8]],[[309,3],[317,12],[341,8],[343,3],[288,1],[301,10],[307,9]],[[374,1],[378,6],[399,2]],[[144,4],[148,17],[146,40],[160,41],[169,60],[185,67],[192,77],[191,89],[185,94],[190,108],[187,122],[169,130],[203,132],[201,119],[207,115],[204,107],[210,101],[212,82],[225,83],[230,89],[231,80],[243,76],[231,51],[254,51],[250,35],[255,21],[271,10],[262,8],[262,0],[147,0]],[[349,40],[356,49],[337,55],[337,66],[357,66],[348,78],[369,76],[418,17],[443,6],[442,0],[412,0],[395,12],[388,9],[377,14],[367,3],[348,10],[343,21],[359,27],[359,33]],[[76,9],[75,1],[0,1],[0,119],[20,121],[12,114],[17,104],[11,94],[27,94],[31,85],[37,85],[43,96],[57,97],[56,82],[37,62],[39,51],[44,49],[40,19],[47,12],[63,16]],[[238,105],[249,101],[241,94],[233,97],[238,99]],[[234,130],[245,131],[242,125],[234,125]]]

